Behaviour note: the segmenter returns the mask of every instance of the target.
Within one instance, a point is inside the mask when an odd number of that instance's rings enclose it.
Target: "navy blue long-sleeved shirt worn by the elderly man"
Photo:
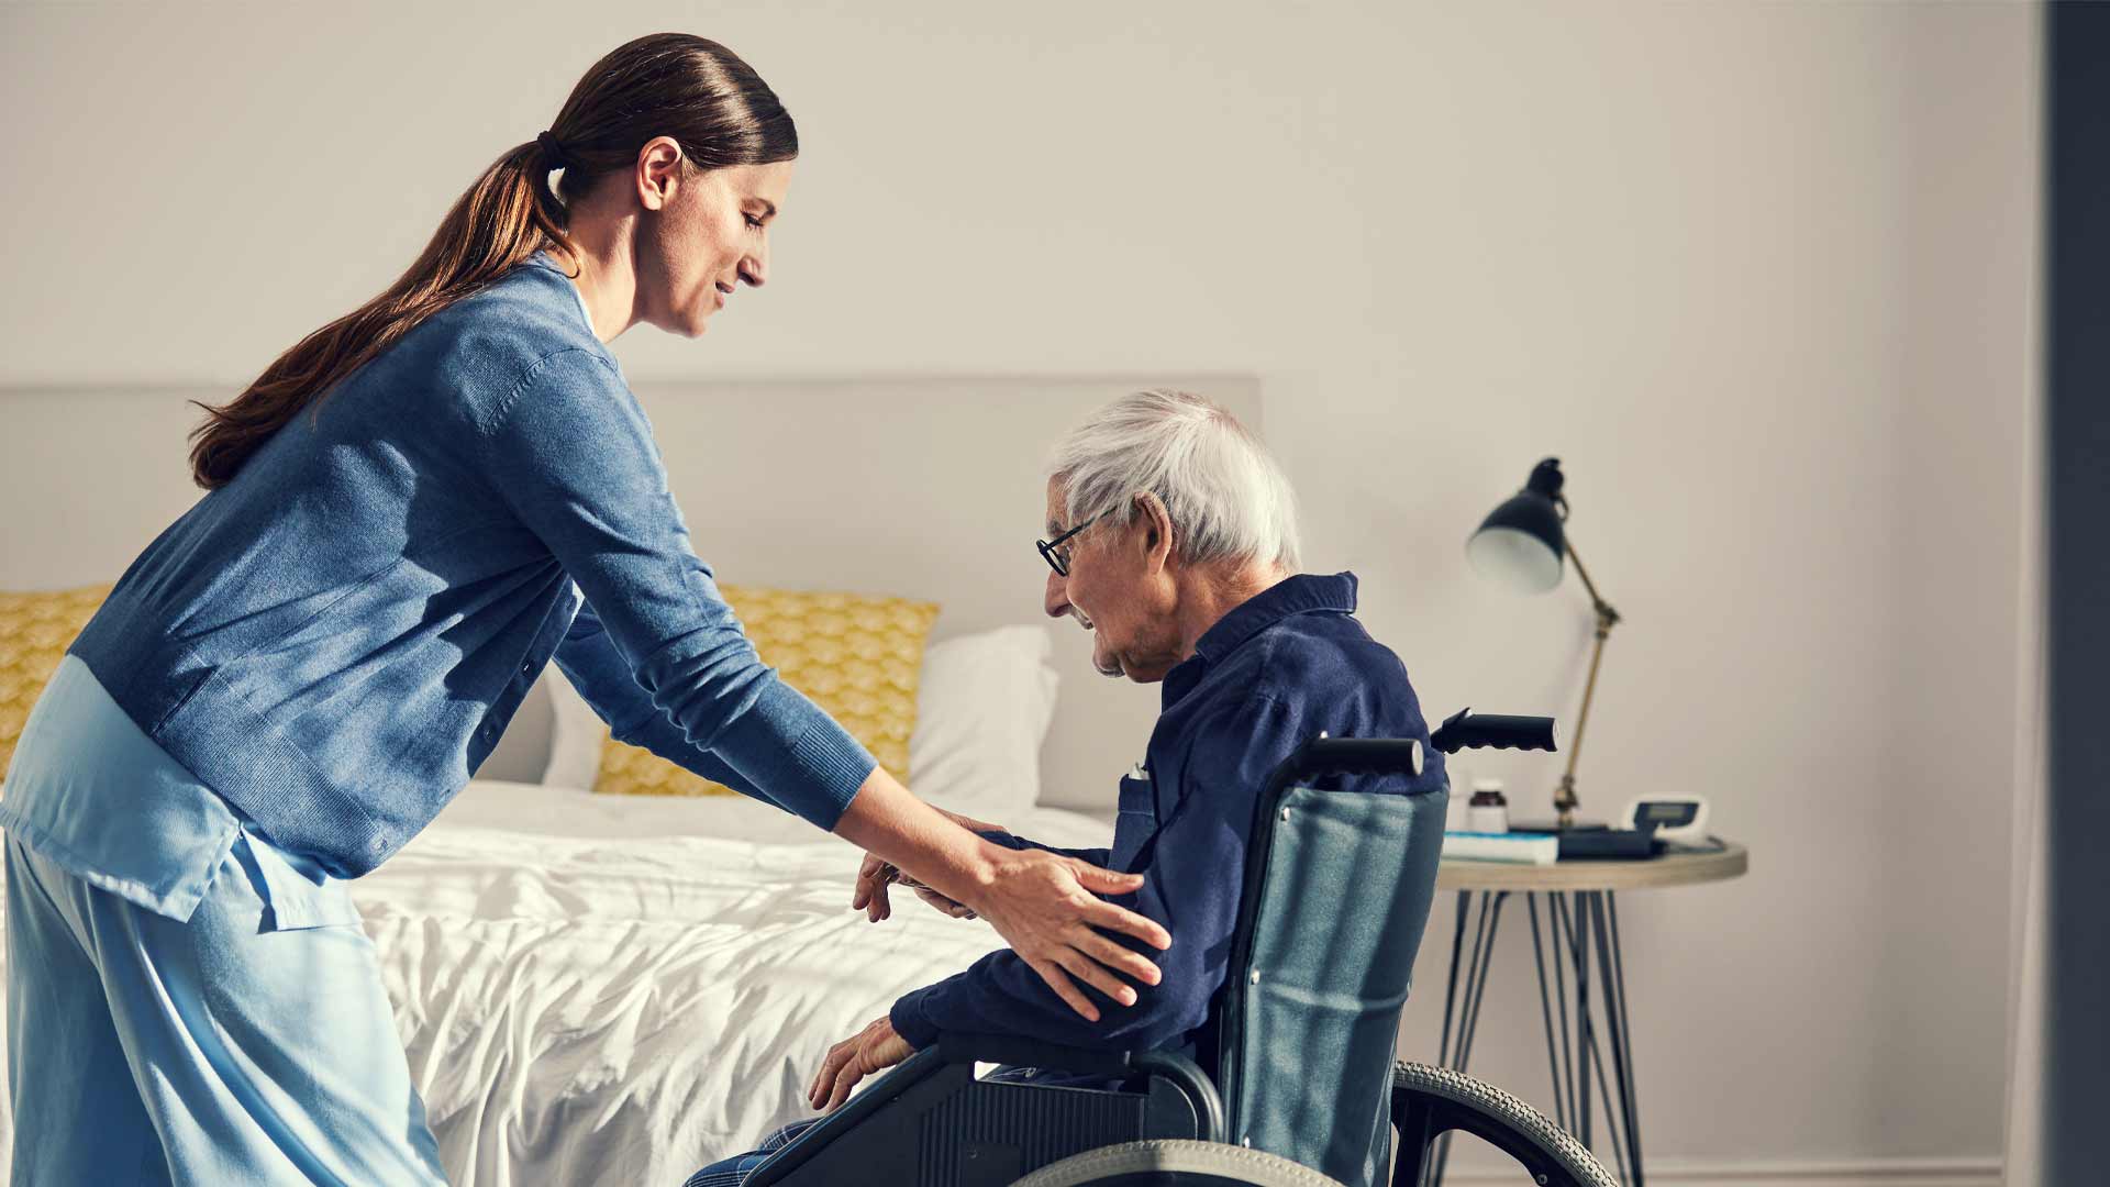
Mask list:
[[[1118,1005],[1078,982],[1099,1007],[1101,1020],[1089,1022],[1006,948],[895,1001],[895,1031],[916,1048],[931,1045],[939,1031],[958,1031],[1192,1052],[1230,965],[1253,805],[1274,767],[1321,731],[1416,737],[1428,746],[1407,670],[1353,613],[1355,574],[1342,572],[1289,577],[1224,615],[1194,655],[1165,674],[1165,710],[1146,752],[1148,779],[1120,781],[1112,849],[1061,849],[1146,877],[1144,889],[1114,902],[1171,931],[1173,946],[1152,953],[1165,974],[1160,984],[1137,986],[1135,1005]],[[1416,779],[1319,784],[1435,790],[1443,786],[1443,756],[1428,750]],[[992,839],[1032,845],[1009,834]]]

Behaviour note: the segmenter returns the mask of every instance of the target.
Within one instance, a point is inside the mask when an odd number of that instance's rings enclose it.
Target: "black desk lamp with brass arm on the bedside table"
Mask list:
[[[1561,494],[1561,460],[1547,458],[1532,467],[1532,477],[1523,490],[1507,498],[1488,513],[1479,530],[1464,543],[1464,555],[1481,574],[1517,589],[1519,594],[1545,594],[1561,583],[1561,558],[1576,564],[1576,577],[1589,591],[1597,608],[1597,644],[1589,657],[1589,682],[1582,684],[1582,712],[1576,714],[1576,735],[1568,746],[1568,773],[1553,792],[1553,811],[1559,813],[1559,828],[1574,828],[1576,819],[1576,758],[1582,756],[1582,731],[1589,727],[1589,701],[1597,691],[1597,661],[1604,659],[1604,640],[1618,623],[1614,610],[1597,596],[1597,585],[1582,568],[1582,558],[1568,543],[1568,498]]]

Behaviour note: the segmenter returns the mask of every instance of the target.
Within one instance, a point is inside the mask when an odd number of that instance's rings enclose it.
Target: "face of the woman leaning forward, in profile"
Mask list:
[[[650,215],[637,243],[639,321],[696,338],[741,283],[768,279],[768,234],[791,186],[791,163],[709,171],[684,169],[679,158],[658,171],[646,165]]]

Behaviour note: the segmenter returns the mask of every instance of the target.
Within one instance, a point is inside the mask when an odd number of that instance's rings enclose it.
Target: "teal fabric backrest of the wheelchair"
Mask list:
[[[1315,790],[1306,771],[1342,767],[1306,748],[1260,796],[1215,1054],[1230,1141],[1365,1187],[1382,1181],[1390,1149],[1399,1012],[1450,796],[1407,792],[1414,743],[1348,746],[1401,748],[1399,777]]]

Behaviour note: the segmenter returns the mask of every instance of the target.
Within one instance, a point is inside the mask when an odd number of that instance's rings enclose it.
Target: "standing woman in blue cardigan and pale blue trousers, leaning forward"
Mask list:
[[[342,879],[551,659],[616,737],[901,866],[1074,1001],[1070,976],[1156,978],[1091,927],[1165,948],[1091,893],[1139,879],[909,796],[690,549],[606,342],[703,334],[760,285],[795,152],[724,46],[625,44],[403,279],[209,410],[209,494],[72,644],[0,800],[15,1183],[443,1181]]]

